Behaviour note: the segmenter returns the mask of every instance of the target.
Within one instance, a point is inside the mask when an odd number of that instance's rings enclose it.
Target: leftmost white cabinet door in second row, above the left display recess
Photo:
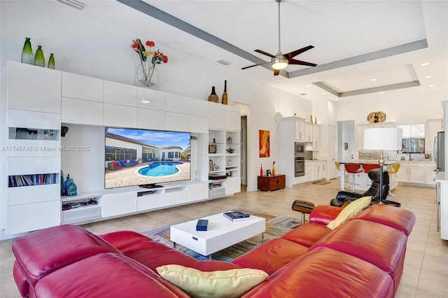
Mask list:
[[[103,103],[62,97],[62,122],[80,125],[103,125]]]

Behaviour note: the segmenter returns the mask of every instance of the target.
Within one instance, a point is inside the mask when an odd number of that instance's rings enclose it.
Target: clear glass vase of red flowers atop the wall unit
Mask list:
[[[146,48],[145,48],[146,45]],[[141,43],[140,38],[132,40],[131,48],[137,52],[140,59],[140,64],[137,67],[137,78],[142,85],[152,87],[155,85],[154,71],[155,66],[162,63],[168,63],[167,55],[164,55],[160,50],[153,50],[155,46],[154,41],[146,41]]]

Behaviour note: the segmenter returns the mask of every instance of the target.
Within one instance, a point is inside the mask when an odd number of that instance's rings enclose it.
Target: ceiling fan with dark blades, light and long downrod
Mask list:
[[[274,0],[276,3],[279,3],[279,52],[276,53],[276,55],[269,54],[269,52],[265,52],[263,50],[255,50],[255,52],[259,52],[262,55],[266,55],[271,57],[271,62],[263,62],[259,64],[253,64],[251,66],[243,67],[242,69],[248,69],[253,66],[259,66],[262,64],[270,63],[272,68],[274,69],[274,76],[278,76],[281,69],[284,69],[288,64],[300,64],[300,65],[307,65],[307,66],[316,66],[317,64],[310,63],[310,62],[304,62],[297,59],[293,59],[295,56],[302,54],[302,52],[305,52],[307,50],[311,50],[314,48],[312,45],[308,45],[307,47],[301,48],[299,50],[294,50],[293,52],[288,52],[288,54],[283,55],[281,53],[280,49],[280,2],[283,0]]]

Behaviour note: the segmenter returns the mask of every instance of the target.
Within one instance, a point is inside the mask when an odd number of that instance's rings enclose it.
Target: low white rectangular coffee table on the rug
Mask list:
[[[228,220],[223,213],[200,219],[209,220],[207,231],[196,231],[197,220],[181,222],[170,227],[170,239],[173,241],[174,247],[176,247],[176,243],[179,243],[196,253],[209,256],[211,259],[213,253],[255,235],[261,234],[263,239],[263,233],[266,230],[265,219],[254,215],[251,215],[249,220],[238,222]]]

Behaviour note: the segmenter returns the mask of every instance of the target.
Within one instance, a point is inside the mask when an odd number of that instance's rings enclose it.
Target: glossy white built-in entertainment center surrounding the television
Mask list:
[[[191,204],[241,190],[239,108],[11,61],[7,88],[6,235]],[[69,128],[66,136],[61,135],[62,126]],[[190,132],[190,180],[151,190],[104,189],[104,127]],[[75,181],[77,196],[60,196],[61,170]],[[226,178],[209,180],[209,175]],[[62,210],[69,203],[81,206]]]

